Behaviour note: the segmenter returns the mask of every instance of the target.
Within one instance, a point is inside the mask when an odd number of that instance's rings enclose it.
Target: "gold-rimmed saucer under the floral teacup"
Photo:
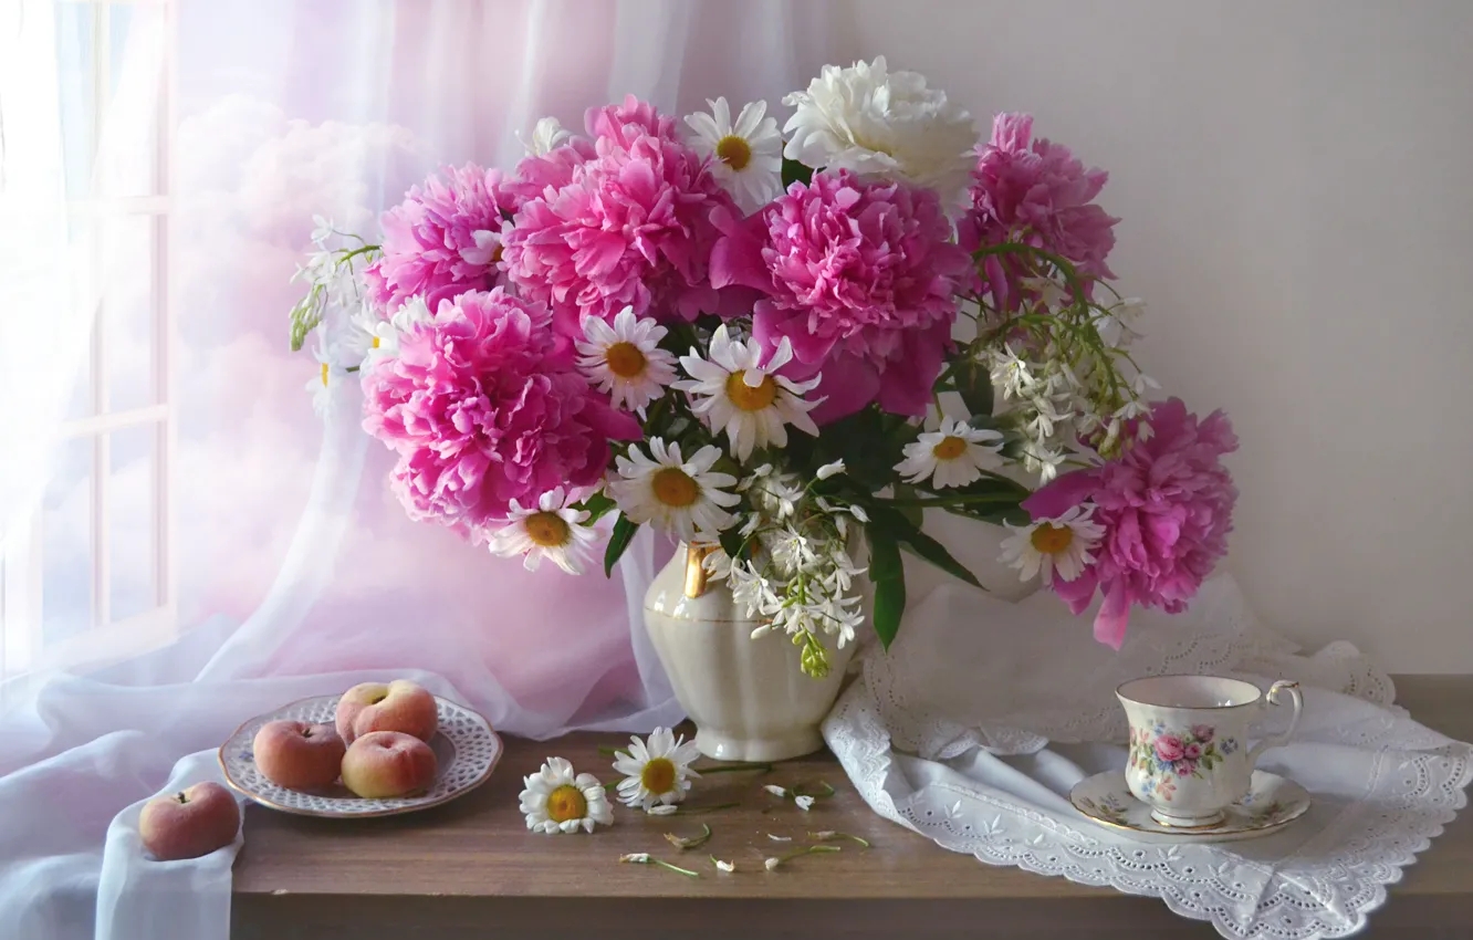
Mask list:
[[[1277,832],[1309,810],[1309,794],[1292,779],[1254,771],[1243,802],[1228,806],[1223,822],[1199,829],[1161,825],[1152,819],[1150,807],[1131,796],[1121,771],[1081,779],[1069,791],[1069,803],[1094,822],[1145,837],[1143,841],[1226,843]]]

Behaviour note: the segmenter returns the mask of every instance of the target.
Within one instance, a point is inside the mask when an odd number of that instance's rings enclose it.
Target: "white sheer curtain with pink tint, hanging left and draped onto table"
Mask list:
[[[224,937],[230,859],[140,865],[137,806],[295,697],[407,675],[527,735],[679,718],[636,616],[655,547],[622,581],[569,579],[411,523],[356,387],[315,417],[289,278],[314,214],[370,234],[440,165],[510,166],[538,116],[576,127],[625,93],[775,105],[825,60],[820,19],[781,0],[0,9],[0,936]]]

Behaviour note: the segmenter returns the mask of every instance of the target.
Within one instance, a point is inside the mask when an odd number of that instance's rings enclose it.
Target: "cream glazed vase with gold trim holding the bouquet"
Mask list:
[[[675,697],[695,722],[695,746],[720,760],[787,760],[823,747],[819,723],[834,706],[856,644],[825,638],[829,675],[798,669],[798,647],[738,611],[723,581],[707,581],[709,550],[681,545],[645,594],[645,626]]]

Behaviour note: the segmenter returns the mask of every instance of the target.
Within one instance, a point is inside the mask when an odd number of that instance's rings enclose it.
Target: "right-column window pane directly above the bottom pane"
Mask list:
[[[102,242],[103,361],[108,368],[108,411],[156,404],[153,382],[155,227],[153,215],[99,220]]]

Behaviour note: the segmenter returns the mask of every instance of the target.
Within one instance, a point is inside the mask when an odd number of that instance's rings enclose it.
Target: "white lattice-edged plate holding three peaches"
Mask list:
[[[286,813],[362,819],[412,813],[417,809],[448,803],[486,782],[501,760],[501,738],[491,729],[491,723],[470,709],[436,695],[440,728],[430,738],[430,748],[435,751],[439,769],[435,782],[421,794],[364,799],[354,796],[340,782],[309,793],[287,790],[267,779],[256,768],[255,754],[250,751],[261,726],[277,719],[331,725],[337,716],[339,698],[342,695],[303,698],[268,715],[258,715],[236,728],[230,740],[219,747],[219,766],[225,771],[225,782],[256,803]]]

